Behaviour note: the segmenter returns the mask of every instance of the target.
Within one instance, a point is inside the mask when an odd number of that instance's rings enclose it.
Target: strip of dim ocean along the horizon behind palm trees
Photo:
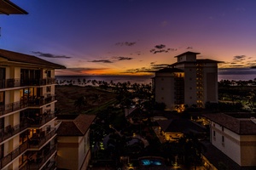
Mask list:
[[[149,84],[152,82],[152,76],[55,76],[58,82],[61,81],[74,81],[74,84],[78,84],[79,80],[82,82],[89,80],[105,81],[114,83],[117,82],[131,82],[140,84]],[[248,81],[256,78],[256,69],[250,68],[229,68],[229,69],[218,69],[218,82],[221,80],[235,80],[235,81]],[[81,85],[80,84],[80,85]],[[83,84],[82,84],[83,85]]]

